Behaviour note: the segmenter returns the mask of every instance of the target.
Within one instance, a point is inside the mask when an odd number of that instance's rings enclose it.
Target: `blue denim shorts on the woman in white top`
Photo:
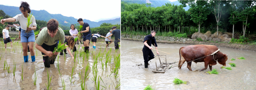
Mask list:
[[[20,32],[20,41],[21,42],[35,42],[34,30],[29,31],[28,33],[23,30]]]

